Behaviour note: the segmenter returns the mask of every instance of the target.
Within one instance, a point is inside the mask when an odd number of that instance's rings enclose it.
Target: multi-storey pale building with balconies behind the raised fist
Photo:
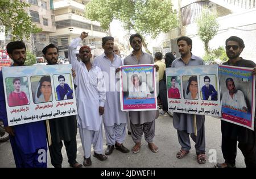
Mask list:
[[[82,31],[88,32],[88,38],[83,41],[94,50],[101,53],[102,37],[108,33],[102,30],[100,23],[84,18],[85,6],[89,0],[54,0],[56,32],[51,33],[49,41],[59,47],[59,54],[68,58],[68,44],[80,36]],[[82,45],[82,43],[81,43]],[[95,54],[99,55],[99,54]]]

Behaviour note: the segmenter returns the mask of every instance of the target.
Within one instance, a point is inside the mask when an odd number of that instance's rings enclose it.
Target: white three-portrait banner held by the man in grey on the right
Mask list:
[[[168,110],[221,116],[218,65],[166,69]]]

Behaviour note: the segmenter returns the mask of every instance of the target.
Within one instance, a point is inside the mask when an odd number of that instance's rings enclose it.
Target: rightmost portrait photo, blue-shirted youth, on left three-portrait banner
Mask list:
[[[73,85],[70,74],[54,74],[53,83],[56,101],[73,99]]]

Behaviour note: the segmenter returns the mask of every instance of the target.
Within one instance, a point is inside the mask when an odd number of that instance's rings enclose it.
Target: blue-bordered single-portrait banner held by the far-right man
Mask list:
[[[250,127],[254,120],[255,81],[252,69],[220,66],[222,119]]]

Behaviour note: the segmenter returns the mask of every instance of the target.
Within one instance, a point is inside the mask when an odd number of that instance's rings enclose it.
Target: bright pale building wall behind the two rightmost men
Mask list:
[[[256,19],[254,18],[256,0],[180,0],[173,2],[174,9],[180,14],[180,27],[158,36],[157,43],[162,47],[164,54],[175,51],[179,57],[176,40],[180,36],[188,36],[193,40],[192,53],[204,56],[204,44],[197,35],[196,19],[200,18],[203,9],[207,7],[209,11],[218,16],[217,22],[220,24],[217,35],[209,42],[210,49],[225,47],[225,40],[229,36],[239,36],[245,42],[245,49],[241,56],[256,62],[255,42],[252,40],[256,39]]]

